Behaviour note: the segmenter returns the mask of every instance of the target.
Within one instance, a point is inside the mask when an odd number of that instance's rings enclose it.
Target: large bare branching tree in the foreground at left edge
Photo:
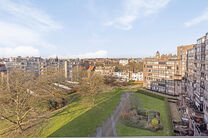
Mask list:
[[[20,70],[9,72],[0,83],[0,120],[7,127],[0,133],[22,133],[36,120],[38,97],[34,96],[34,75]]]

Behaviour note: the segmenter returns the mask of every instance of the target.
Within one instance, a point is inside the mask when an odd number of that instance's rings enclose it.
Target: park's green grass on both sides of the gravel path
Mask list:
[[[115,89],[111,92],[102,93],[96,98],[96,106],[92,108],[82,104],[83,99],[77,99],[67,108],[54,114],[47,123],[43,124],[40,129],[41,136],[96,136],[99,132],[97,128],[105,125],[106,120],[108,120],[119,105],[122,95],[128,91],[128,89]],[[131,100],[131,97],[135,97],[136,95],[139,98],[139,107],[142,107],[146,111],[159,112],[159,120],[162,127],[157,131],[131,127],[123,124],[121,117],[119,117],[116,121],[117,136],[173,135],[172,121],[166,98],[146,93],[144,90],[137,90],[130,94],[129,99]],[[121,111],[118,116],[121,116]],[[109,130],[104,129],[103,131]],[[108,134],[108,136],[114,136],[113,130],[110,130]]]

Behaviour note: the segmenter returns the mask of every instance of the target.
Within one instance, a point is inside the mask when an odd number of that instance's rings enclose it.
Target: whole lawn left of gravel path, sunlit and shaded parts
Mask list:
[[[97,97],[97,106],[93,108],[83,104],[83,100],[71,103],[42,125],[41,131],[39,130],[41,137],[88,136],[108,118],[120,101],[120,94],[124,91],[128,90],[116,89],[102,93]]]

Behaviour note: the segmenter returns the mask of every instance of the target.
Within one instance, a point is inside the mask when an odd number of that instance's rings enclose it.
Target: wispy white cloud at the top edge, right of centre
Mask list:
[[[122,14],[104,25],[122,30],[133,28],[132,23],[142,17],[155,14],[164,8],[170,0],[124,0]]]

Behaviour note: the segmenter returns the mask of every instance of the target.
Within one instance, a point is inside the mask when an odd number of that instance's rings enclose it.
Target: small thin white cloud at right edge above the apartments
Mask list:
[[[194,19],[192,19],[192,20],[190,20],[188,22],[185,22],[184,25],[186,27],[191,27],[193,25],[197,25],[197,24],[199,24],[201,22],[204,22],[204,21],[208,21],[208,9],[206,9],[202,13],[202,15],[200,15],[200,16],[198,16],[198,17],[196,17],[196,18],[194,18]]]

